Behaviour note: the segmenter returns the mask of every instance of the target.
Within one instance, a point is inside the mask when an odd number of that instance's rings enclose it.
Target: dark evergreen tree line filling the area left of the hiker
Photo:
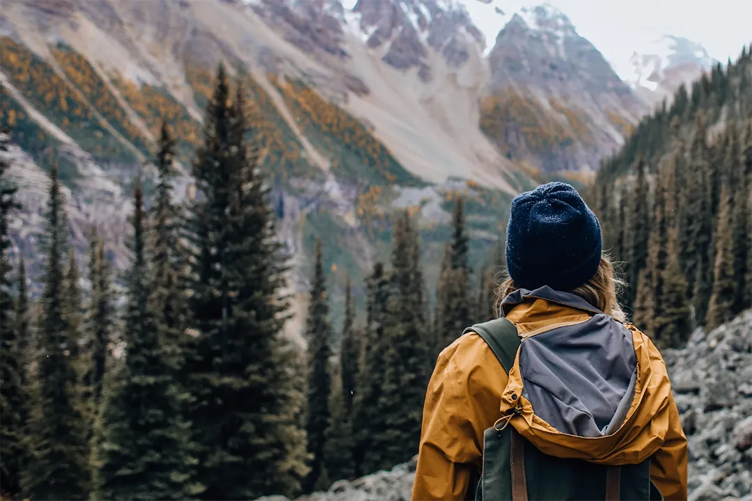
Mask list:
[[[86,279],[77,267],[54,164],[44,288],[29,297],[23,259],[14,270],[9,258],[19,207],[0,162],[0,497],[247,500],[389,468],[417,451],[438,352],[493,315],[500,263],[471,279],[458,199],[433,314],[417,222],[401,212],[389,265],[366,281],[365,324],[347,281],[339,346],[317,244],[307,347],[296,349],[283,333],[290,267],[244,89],[233,92],[222,65],[215,82],[197,196],[172,196],[176,138],[164,122],[152,201],[135,181],[123,307],[96,232]]]

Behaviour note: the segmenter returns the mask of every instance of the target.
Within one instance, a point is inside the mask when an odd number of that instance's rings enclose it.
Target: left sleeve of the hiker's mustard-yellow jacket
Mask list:
[[[472,425],[459,402],[456,367],[439,355],[423,406],[423,430],[413,486],[414,501],[467,499],[474,475],[472,460],[482,456]]]

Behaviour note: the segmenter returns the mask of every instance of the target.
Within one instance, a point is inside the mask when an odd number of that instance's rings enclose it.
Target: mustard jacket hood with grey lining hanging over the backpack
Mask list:
[[[671,387],[643,333],[547,286],[515,291],[501,309],[522,337],[502,394],[508,424],[556,457],[632,464],[660,448]]]

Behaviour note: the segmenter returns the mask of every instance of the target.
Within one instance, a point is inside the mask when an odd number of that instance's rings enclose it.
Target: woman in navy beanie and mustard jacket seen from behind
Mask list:
[[[511,322],[511,367],[475,329],[441,352],[423,409],[413,499],[506,499],[475,488],[481,470],[491,469],[484,440],[488,452],[497,434],[488,432],[506,430],[525,439],[526,454],[569,461],[555,464],[644,464],[650,488],[666,501],[686,500],[687,439],[666,366],[653,343],[624,323],[598,219],[572,186],[549,183],[512,201],[507,266],[498,294],[506,320],[496,322]],[[532,461],[529,455],[523,465]],[[496,466],[507,484],[519,471],[511,462]],[[524,466],[517,466],[523,487]]]

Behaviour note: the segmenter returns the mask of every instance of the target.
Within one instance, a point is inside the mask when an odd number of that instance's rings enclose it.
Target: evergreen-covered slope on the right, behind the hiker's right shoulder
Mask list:
[[[593,199],[621,301],[660,346],[752,306],[752,59],[718,65],[641,122]]]

